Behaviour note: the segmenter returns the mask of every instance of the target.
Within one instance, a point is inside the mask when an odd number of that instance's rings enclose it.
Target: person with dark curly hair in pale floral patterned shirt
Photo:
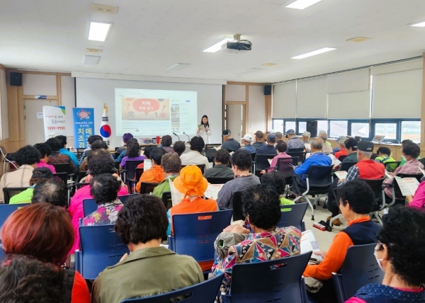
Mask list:
[[[91,179],[90,194],[98,208],[83,219],[84,226],[115,224],[118,212],[123,207],[123,203],[118,199],[120,188],[120,181],[111,173],[102,173]]]

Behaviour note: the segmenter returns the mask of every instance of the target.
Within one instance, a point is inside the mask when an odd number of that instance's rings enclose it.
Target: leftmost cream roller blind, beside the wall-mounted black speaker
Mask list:
[[[296,88],[295,82],[273,86],[272,118],[295,118]]]

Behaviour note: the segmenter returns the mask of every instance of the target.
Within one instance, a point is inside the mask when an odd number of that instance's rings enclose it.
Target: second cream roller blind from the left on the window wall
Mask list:
[[[327,118],[327,77],[297,81],[297,118]]]

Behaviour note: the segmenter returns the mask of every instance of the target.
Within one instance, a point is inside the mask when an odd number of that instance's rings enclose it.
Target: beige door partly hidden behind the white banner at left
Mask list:
[[[45,142],[44,119],[42,115],[43,105],[57,106],[56,100],[35,100],[23,101],[23,116],[25,121],[25,144]]]

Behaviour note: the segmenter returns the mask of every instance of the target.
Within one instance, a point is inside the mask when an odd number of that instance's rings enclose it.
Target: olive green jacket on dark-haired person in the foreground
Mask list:
[[[180,256],[162,246],[143,248],[98,275],[91,302],[118,303],[124,299],[149,297],[203,280],[202,270],[191,256]]]

